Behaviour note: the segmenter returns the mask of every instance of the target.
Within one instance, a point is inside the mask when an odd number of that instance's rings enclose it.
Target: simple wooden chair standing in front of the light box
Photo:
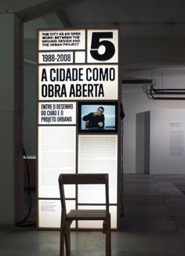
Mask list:
[[[65,203],[64,184],[104,184],[106,210],[70,210],[67,213]],[[106,256],[111,256],[111,213],[109,213],[108,174],[60,174],[60,199],[62,205],[60,226],[60,256],[64,254],[64,242],[66,254],[71,253],[70,226],[72,221],[103,221],[103,233],[106,234]]]

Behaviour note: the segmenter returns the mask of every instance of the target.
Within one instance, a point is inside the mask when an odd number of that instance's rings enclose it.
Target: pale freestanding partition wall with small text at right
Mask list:
[[[185,109],[154,109],[150,116],[150,173],[185,173]]]

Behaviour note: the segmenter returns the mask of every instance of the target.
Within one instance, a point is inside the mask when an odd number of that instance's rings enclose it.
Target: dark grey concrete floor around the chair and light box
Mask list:
[[[185,255],[185,176],[126,174],[124,218],[112,256]],[[102,232],[71,232],[71,256],[103,256]],[[2,256],[58,256],[60,233],[0,227]]]

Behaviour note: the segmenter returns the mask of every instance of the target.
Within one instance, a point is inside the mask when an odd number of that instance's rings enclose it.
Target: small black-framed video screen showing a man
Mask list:
[[[117,102],[79,102],[78,132],[117,132]]]

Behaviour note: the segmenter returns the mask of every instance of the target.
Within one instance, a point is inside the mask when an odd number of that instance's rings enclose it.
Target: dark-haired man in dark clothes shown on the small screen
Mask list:
[[[85,121],[85,128],[103,128],[105,117],[103,115],[104,108],[99,106],[96,112],[85,115],[82,120]]]

